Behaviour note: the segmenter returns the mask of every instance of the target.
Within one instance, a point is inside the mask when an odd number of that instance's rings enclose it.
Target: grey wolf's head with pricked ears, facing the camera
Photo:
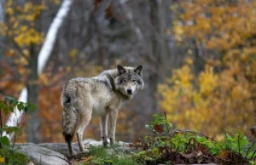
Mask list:
[[[131,99],[137,91],[143,89],[143,65],[137,68],[118,65],[117,72],[118,76],[114,79],[114,85],[121,94]]]

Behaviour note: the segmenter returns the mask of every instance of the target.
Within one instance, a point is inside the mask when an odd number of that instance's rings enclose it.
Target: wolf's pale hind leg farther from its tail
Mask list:
[[[81,123],[79,124],[79,129],[77,131],[77,138],[79,143],[79,149],[81,152],[86,152],[87,150],[84,149],[84,143],[83,143],[83,134],[84,129],[88,126],[91,118],[91,111],[87,111],[87,114],[81,115]]]

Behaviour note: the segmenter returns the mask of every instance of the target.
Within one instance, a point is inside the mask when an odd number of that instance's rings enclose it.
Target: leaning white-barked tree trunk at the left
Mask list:
[[[57,33],[60,30],[63,20],[65,20],[65,18],[67,17],[67,13],[71,8],[72,3],[73,3],[73,0],[63,0],[63,2],[61,3],[61,8],[56,14],[55,19],[49,26],[49,31],[47,32],[47,35],[45,37],[45,42],[38,54],[38,75],[40,75],[41,72],[44,70],[44,66],[46,65],[47,60],[49,60],[49,56],[52,52],[52,49],[56,41]],[[20,93],[19,101],[27,102],[26,88],[22,89]],[[17,126],[20,123],[22,115],[23,115],[23,111],[18,111],[17,109],[15,109],[15,111],[10,115],[6,125],[8,127]],[[3,132],[3,135],[7,135],[9,137],[9,140],[11,140],[14,136],[14,134],[9,136],[5,132]]]

